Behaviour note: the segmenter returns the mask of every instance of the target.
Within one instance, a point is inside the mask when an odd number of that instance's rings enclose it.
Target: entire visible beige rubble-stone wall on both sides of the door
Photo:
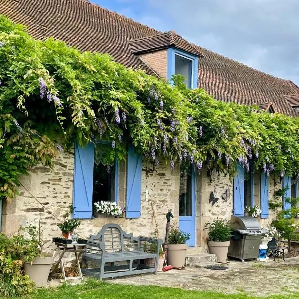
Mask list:
[[[170,165],[160,162],[154,171],[146,174],[146,162],[142,165],[142,195],[141,217],[137,219],[126,218],[95,218],[82,220],[77,232],[85,238],[96,234],[104,224],[114,222],[125,231],[133,232],[135,236],[152,235],[156,229],[153,220],[152,205],[156,212],[160,238],[165,237],[166,218],[169,209],[172,209],[174,221],[179,218],[179,167],[173,172]],[[16,233],[20,225],[30,223],[38,224],[39,217],[44,231],[45,247],[53,249],[52,237],[59,236],[57,226],[63,215],[69,211],[73,197],[74,152],[61,152],[54,162],[54,169],[37,166],[27,176],[21,179],[19,195],[10,203],[4,202],[2,231],[7,234]],[[126,163],[119,167],[119,205],[126,205]],[[281,188],[278,177],[269,179],[269,199],[274,192]],[[255,174],[255,204],[260,206],[259,174]],[[148,197],[146,200],[146,191]],[[214,200],[210,200],[213,192]],[[35,198],[32,197],[32,195]],[[213,204],[214,203],[214,204]],[[205,224],[216,217],[230,220],[233,213],[233,182],[229,177],[213,174],[207,177],[206,169],[196,178],[196,246],[202,252],[207,252],[207,231]],[[262,227],[268,227],[274,219],[274,212],[269,211],[267,219],[259,219]]]

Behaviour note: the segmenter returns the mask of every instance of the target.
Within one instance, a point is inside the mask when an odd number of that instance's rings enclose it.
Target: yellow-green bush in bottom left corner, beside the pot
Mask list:
[[[9,238],[0,233],[0,296],[16,297],[32,291],[34,284],[22,268],[32,245],[22,235]]]

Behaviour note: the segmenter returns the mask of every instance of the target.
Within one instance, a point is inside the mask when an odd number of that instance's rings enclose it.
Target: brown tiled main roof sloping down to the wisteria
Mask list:
[[[188,43],[175,32],[162,33],[89,1],[0,0],[0,13],[28,26],[35,38],[53,36],[84,51],[109,53],[126,67],[141,68],[149,74],[155,72],[133,52],[175,44],[203,55],[198,59],[198,87],[216,99],[247,105],[272,102],[277,112],[299,116],[290,105],[291,95],[299,94],[291,81],[262,73]]]

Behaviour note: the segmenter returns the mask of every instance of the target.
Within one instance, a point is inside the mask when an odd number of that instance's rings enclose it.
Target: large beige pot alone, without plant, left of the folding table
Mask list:
[[[24,263],[25,273],[35,282],[36,287],[45,287],[54,257],[36,257],[32,262]]]

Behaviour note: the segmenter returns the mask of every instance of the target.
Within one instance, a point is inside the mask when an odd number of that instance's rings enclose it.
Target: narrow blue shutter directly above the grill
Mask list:
[[[244,216],[244,168],[238,165],[237,171],[234,179],[234,215]]]

